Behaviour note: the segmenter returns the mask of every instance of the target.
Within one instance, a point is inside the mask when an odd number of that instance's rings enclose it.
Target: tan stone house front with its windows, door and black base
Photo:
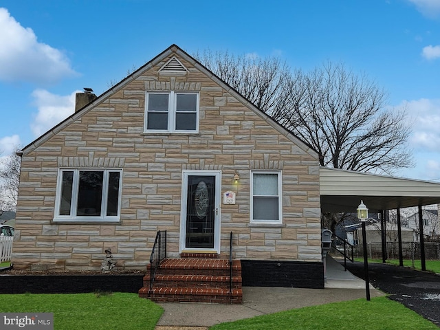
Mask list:
[[[23,148],[15,268],[100,270],[111,248],[145,270],[157,230],[168,258],[226,259],[232,232],[243,285],[323,287],[307,142],[175,45],[88,100]]]

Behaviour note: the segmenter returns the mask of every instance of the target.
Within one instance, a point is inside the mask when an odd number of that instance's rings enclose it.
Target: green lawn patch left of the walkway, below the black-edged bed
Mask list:
[[[153,330],[162,307],[137,294],[0,294],[3,313],[54,313],[56,330]]]

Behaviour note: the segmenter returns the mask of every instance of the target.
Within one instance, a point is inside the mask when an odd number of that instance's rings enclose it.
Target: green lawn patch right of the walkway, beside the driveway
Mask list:
[[[257,316],[210,327],[210,330],[434,330],[434,323],[386,297],[358,299],[276,314]]]

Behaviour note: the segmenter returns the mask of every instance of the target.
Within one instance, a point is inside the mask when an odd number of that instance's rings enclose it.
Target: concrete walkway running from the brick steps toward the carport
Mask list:
[[[371,298],[384,296],[372,286],[370,294]],[[242,305],[162,303],[164,314],[156,330],[202,330],[218,323],[358,298],[365,298],[365,282],[327,258],[325,289],[243,287]]]

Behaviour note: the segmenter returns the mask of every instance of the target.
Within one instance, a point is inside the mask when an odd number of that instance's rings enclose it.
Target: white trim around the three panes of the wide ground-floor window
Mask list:
[[[79,173],[83,170],[99,171],[104,172],[104,177],[102,179],[102,201],[101,201],[101,214],[107,214],[107,195],[108,195],[108,185],[109,185],[109,172],[120,173],[119,179],[119,197],[118,197],[118,215],[102,215],[100,217],[82,217],[76,216],[76,206],[78,203],[78,185],[79,185]],[[72,201],[70,203],[70,214],[60,215],[61,206],[61,189],[63,188],[63,173],[67,171],[74,172],[74,179],[72,182]],[[120,212],[121,212],[121,199],[122,199],[122,169],[121,168],[59,168],[58,169],[58,179],[56,181],[56,199],[55,199],[55,210],[54,210],[54,222],[119,222]]]

